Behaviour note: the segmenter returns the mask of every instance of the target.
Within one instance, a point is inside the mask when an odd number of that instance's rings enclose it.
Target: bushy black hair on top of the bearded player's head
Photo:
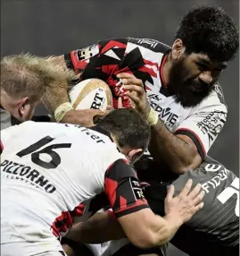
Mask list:
[[[175,38],[180,38],[186,54],[203,53],[212,61],[228,61],[239,47],[234,20],[219,6],[194,8],[180,21]]]

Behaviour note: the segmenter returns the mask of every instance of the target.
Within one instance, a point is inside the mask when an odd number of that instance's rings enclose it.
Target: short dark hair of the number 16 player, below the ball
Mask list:
[[[150,125],[132,108],[112,110],[97,125],[116,136],[120,147],[129,146],[132,149],[143,150],[148,147]]]

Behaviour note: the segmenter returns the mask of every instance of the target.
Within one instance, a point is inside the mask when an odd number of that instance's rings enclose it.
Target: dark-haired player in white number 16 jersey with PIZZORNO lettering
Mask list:
[[[130,164],[149,139],[149,124],[134,109],[113,110],[91,129],[32,121],[4,129],[1,253],[65,255],[58,237],[83,213],[84,201],[102,192],[132,243],[168,242],[203,208],[204,192],[199,184],[191,191],[189,180],[173,197],[171,186],[166,215],[154,215]]]

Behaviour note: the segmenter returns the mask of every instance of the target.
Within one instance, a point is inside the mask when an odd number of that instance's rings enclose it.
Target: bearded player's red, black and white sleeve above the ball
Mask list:
[[[128,38],[112,38],[100,40],[96,44],[71,51],[64,55],[68,68],[79,73],[79,81],[98,78],[105,81],[112,90],[113,107],[117,108],[119,96],[123,99],[123,107],[131,107],[118,73],[132,73],[136,68],[135,59],[126,54]]]

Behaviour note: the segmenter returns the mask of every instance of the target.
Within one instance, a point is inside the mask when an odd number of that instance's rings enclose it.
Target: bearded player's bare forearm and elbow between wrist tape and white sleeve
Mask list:
[[[149,151],[155,161],[161,159],[173,172],[185,173],[198,165],[198,152],[191,143],[187,143],[172,134],[161,122],[152,127]]]

